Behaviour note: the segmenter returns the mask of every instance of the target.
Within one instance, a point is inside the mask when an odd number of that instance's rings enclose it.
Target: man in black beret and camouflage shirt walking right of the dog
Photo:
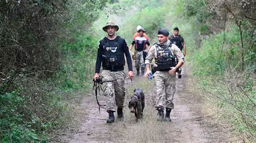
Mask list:
[[[159,121],[171,121],[170,113],[174,108],[173,96],[176,91],[176,70],[184,63],[184,55],[180,49],[171,43],[169,32],[165,29],[158,30],[158,43],[154,44],[145,59],[145,77],[150,76],[150,64],[153,59],[154,69],[154,93],[156,94],[155,108],[159,112]],[[178,59],[176,62],[175,57]],[[165,101],[165,102],[164,102]],[[164,117],[164,108],[166,114]]]

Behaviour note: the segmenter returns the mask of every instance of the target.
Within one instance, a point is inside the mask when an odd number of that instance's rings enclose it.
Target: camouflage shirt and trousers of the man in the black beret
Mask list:
[[[167,40],[170,42],[170,40]],[[159,48],[161,48],[159,46]],[[181,53],[180,49],[172,44],[171,47],[168,47],[171,49],[171,52],[173,55],[177,56],[177,59],[179,61],[182,61],[184,63],[184,56],[183,53]],[[153,45],[150,48],[150,51],[147,54],[145,64],[151,63],[153,58],[157,58],[157,50],[156,46]],[[157,65],[154,64],[156,67]],[[173,109],[173,96],[176,91],[176,75],[169,74],[169,71],[156,71],[154,73],[154,94],[156,95],[156,108],[163,107],[163,108],[170,108]],[[164,102],[165,101],[165,102]]]

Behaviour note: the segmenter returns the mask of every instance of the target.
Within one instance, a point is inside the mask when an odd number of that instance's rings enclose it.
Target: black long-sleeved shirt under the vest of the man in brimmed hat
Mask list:
[[[108,40],[110,45],[114,44],[114,40],[115,39],[113,39],[113,40],[107,39],[107,40]],[[129,69],[129,71],[132,71],[132,59],[131,59],[131,55],[130,55],[130,52],[129,52],[129,48],[128,48],[127,44],[126,44],[125,39],[121,38],[120,41],[121,41],[122,51],[124,52],[124,54],[126,56],[126,61],[127,61],[128,69]],[[102,51],[103,51],[104,43],[105,42],[104,42],[103,39],[99,41],[95,73],[99,73],[100,66],[102,65]],[[116,68],[119,68],[120,70],[124,70],[124,66],[116,67]],[[103,69],[104,69],[104,67],[103,67]]]

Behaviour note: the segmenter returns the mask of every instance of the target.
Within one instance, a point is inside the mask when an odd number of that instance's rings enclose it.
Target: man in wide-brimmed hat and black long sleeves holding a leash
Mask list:
[[[122,119],[123,107],[124,107],[124,65],[126,56],[128,65],[128,77],[133,77],[132,71],[132,60],[129,53],[129,48],[123,38],[116,35],[116,31],[119,27],[114,22],[107,22],[106,26],[102,28],[106,33],[107,37],[104,37],[99,41],[95,75],[93,80],[99,77],[100,66],[102,64],[103,71],[101,73],[104,95],[106,96],[106,110],[109,113],[109,119],[107,123],[114,122],[114,112],[116,112],[115,106],[117,106],[117,117]]]

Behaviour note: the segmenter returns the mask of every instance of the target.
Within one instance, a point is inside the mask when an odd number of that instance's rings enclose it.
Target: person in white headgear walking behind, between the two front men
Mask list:
[[[137,70],[137,76],[139,75],[139,70],[142,75],[144,75],[145,71],[145,65],[144,65],[144,59],[147,55],[147,50],[150,48],[150,42],[149,38],[144,36],[144,33],[146,32],[143,27],[137,28],[138,36],[134,37],[132,40],[132,43],[130,45],[129,51],[131,52],[133,45],[135,49],[135,55],[136,55],[136,61],[135,61],[135,67]],[[146,45],[148,46],[148,49],[146,49]]]

